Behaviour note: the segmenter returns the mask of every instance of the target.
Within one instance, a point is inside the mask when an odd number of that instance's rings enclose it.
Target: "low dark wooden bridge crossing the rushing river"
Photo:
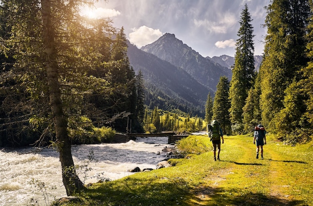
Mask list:
[[[168,137],[167,144],[175,143],[181,138],[188,137],[189,135],[176,135],[174,132],[161,132],[161,133],[128,133],[128,134],[119,134],[116,133],[112,143],[126,143],[130,140],[135,141],[136,137]]]

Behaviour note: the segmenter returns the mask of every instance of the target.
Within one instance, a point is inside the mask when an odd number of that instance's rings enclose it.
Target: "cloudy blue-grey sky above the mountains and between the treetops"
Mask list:
[[[263,52],[266,28],[262,27],[270,0],[99,0],[93,16],[109,17],[113,26],[124,27],[138,48],[164,33],[176,38],[202,56],[234,56],[240,13],[248,5],[253,26],[254,54]]]

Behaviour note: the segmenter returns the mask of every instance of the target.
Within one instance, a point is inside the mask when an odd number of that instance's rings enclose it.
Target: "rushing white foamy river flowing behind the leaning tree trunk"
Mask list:
[[[139,167],[156,169],[166,158],[166,137],[137,138],[120,144],[73,145],[72,156],[84,184],[117,180]],[[58,153],[53,149],[0,149],[0,206],[47,206],[66,197]]]

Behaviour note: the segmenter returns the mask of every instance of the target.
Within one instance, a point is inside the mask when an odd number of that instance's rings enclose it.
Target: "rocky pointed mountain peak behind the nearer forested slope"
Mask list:
[[[177,68],[183,69],[196,81],[213,91],[216,90],[220,76],[231,79],[229,68],[204,58],[177,39],[174,34],[165,33],[153,43],[141,47],[141,50],[154,54]]]

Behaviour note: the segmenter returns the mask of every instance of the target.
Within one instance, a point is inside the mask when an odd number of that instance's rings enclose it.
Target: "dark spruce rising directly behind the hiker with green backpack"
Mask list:
[[[223,132],[227,134],[230,132],[229,109],[229,81],[227,77],[221,76],[216,85],[212,119],[217,120]]]

